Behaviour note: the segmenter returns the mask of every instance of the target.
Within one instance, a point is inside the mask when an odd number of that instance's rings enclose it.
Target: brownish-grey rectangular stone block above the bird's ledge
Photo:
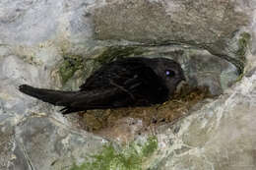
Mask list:
[[[106,2],[94,14],[99,39],[208,44],[227,37],[249,20],[249,16],[235,9],[238,5],[232,1]]]

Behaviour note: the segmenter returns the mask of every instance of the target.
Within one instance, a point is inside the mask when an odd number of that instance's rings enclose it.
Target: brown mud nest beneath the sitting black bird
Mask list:
[[[152,127],[174,123],[190,113],[199,101],[209,97],[207,88],[183,88],[174,97],[151,107],[89,110],[78,114],[79,127],[99,136],[133,138]]]

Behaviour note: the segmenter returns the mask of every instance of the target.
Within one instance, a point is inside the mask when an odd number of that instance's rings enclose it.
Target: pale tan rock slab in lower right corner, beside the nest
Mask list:
[[[153,169],[255,169],[255,94],[254,70],[217,100],[161,129],[163,157]]]

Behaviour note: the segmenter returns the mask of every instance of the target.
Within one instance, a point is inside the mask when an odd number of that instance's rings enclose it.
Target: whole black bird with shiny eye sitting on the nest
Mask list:
[[[19,90],[55,106],[63,115],[93,109],[151,106],[167,101],[185,81],[177,62],[167,58],[127,57],[102,65],[76,91],[20,85]]]

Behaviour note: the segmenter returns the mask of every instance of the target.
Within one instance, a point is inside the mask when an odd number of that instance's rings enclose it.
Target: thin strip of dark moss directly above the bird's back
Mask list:
[[[141,55],[142,53],[143,50],[137,46],[111,46],[98,56],[96,61],[104,64],[113,61],[115,58],[127,57],[132,54]]]

